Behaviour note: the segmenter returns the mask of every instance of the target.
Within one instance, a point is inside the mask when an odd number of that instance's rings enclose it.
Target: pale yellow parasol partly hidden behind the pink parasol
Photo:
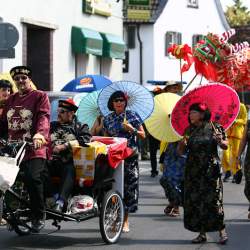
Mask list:
[[[145,125],[148,132],[160,141],[175,142],[181,139],[170,123],[172,110],[181,97],[173,93],[163,93],[154,97],[154,110]]]

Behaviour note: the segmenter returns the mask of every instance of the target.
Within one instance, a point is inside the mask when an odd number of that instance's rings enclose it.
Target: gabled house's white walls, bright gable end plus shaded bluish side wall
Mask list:
[[[155,24],[141,25],[143,42],[143,83],[147,80],[180,80],[180,64],[177,59],[165,56],[165,34],[167,31],[182,33],[182,43],[192,46],[194,34],[223,33],[224,26],[216,8],[215,0],[199,0],[199,8],[187,8],[187,0],[169,0]],[[139,82],[139,43],[129,50],[129,72],[125,79]],[[195,75],[194,67],[183,74],[189,82]],[[194,84],[199,84],[197,77]],[[206,81],[203,79],[203,82]]]

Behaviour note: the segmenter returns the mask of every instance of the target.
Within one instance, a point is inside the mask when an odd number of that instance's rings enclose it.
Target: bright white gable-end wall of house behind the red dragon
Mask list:
[[[178,2],[178,3],[177,3]],[[192,46],[193,34],[223,33],[214,0],[200,0],[199,8],[187,8],[186,0],[169,0],[154,25],[154,77],[156,80],[180,80],[179,60],[165,56],[165,34],[167,31],[182,33],[182,43]],[[183,80],[189,82],[195,75],[194,68],[183,74]],[[197,77],[194,84],[198,84]]]

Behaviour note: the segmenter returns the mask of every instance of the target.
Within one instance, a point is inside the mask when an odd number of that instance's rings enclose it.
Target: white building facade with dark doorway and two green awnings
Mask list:
[[[84,74],[122,79],[122,1],[0,0],[0,6],[2,22],[19,32],[15,58],[0,59],[2,72],[30,66],[43,90],[60,90]]]

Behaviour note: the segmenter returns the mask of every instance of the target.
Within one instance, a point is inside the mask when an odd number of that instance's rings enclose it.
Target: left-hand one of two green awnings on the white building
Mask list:
[[[71,29],[71,46],[74,53],[101,56],[103,40],[97,31],[73,26]]]

